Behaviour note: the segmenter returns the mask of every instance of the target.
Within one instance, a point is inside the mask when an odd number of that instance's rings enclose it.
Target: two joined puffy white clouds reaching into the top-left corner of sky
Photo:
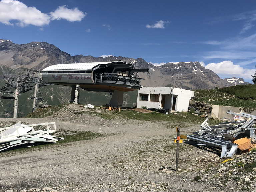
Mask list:
[[[26,4],[16,0],[0,1],[0,22],[6,25],[20,27],[27,25],[43,26],[48,25],[52,20],[66,19],[68,21],[81,21],[87,13],[78,8],[68,9],[66,6],[59,6],[50,15],[42,13],[35,7],[28,7]]]

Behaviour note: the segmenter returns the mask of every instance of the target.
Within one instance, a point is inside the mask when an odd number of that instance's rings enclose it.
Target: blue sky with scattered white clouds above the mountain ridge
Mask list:
[[[251,81],[255,0],[0,0],[0,38],[48,42],[74,55],[198,61]]]

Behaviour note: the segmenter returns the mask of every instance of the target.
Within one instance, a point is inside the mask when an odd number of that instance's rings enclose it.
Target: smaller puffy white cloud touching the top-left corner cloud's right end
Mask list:
[[[68,9],[66,5],[59,6],[54,12],[50,13],[51,20],[66,19],[70,22],[81,21],[87,13],[80,11],[77,7]]]

